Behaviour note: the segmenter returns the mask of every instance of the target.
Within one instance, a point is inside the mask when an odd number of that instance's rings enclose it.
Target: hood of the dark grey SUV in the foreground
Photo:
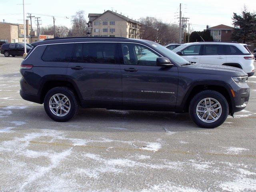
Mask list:
[[[230,66],[224,66],[224,65],[213,65],[213,64],[193,64],[187,66],[188,68],[195,69],[195,70],[202,70],[202,73],[205,74],[227,74],[230,73],[232,75],[237,76],[246,76],[247,73],[237,67],[230,67]],[[197,71],[199,72],[199,71]]]

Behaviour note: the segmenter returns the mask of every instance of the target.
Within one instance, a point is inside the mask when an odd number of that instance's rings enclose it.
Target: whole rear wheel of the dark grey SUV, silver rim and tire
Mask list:
[[[66,122],[78,113],[76,94],[66,87],[52,88],[44,98],[44,110],[54,121]]]

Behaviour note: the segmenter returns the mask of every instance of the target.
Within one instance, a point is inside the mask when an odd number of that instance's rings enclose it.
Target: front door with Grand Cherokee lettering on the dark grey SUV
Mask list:
[[[156,66],[159,54],[141,44],[121,43],[123,104],[176,105],[178,69]]]

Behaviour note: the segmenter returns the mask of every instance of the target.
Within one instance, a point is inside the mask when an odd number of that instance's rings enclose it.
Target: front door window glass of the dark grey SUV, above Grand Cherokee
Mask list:
[[[124,64],[156,66],[156,59],[159,55],[149,48],[130,43],[122,43],[121,47]]]

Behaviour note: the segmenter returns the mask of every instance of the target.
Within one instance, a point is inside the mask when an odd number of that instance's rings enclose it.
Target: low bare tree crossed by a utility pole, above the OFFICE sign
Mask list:
[[[46,27],[41,27],[41,34],[52,35],[53,34],[53,25],[48,25]],[[55,26],[55,36],[57,37],[67,37],[69,29],[66,26],[58,25]]]

